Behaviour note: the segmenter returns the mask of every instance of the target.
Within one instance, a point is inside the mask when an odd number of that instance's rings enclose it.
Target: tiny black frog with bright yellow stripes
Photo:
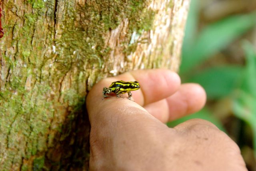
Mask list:
[[[112,84],[110,84],[110,86],[104,87],[103,88],[103,98],[105,97],[110,97],[109,95],[106,94],[110,94],[111,92],[114,92],[116,94],[116,97],[121,97],[119,94],[124,94],[124,93],[128,93],[128,99],[131,100],[132,97],[132,93],[131,91],[140,89],[140,84],[135,81],[135,82],[124,82],[124,81],[117,81],[117,82],[112,82]],[[124,97],[123,97],[124,98]]]

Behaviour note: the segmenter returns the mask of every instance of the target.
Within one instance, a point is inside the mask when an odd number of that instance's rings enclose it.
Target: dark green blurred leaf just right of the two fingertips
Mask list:
[[[222,66],[204,70],[190,76],[188,82],[195,82],[206,90],[209,99],[218,99],[229,95],[241,79],[243,68],[240,66]]]

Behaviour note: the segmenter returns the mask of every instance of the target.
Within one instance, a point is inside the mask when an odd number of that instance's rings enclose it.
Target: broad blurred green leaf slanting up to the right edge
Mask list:
[[[206,26],[192,46],[184,42],[180,72],[188,72],[194,66],[225,48],[238,36],[255,26],[255,18],[256,12],[234,15]]]

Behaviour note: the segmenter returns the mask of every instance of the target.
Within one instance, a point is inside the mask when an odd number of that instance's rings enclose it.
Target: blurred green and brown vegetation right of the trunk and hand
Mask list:
[[[208,101],[191,118],[211,121],[238,143],[256,170],[256,1],[192,0],[182,48],[182,82],[206,89]]]

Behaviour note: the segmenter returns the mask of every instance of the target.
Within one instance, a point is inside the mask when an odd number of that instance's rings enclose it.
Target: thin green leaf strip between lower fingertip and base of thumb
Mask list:
[[[177,119],[172,122],[168,122],[167,125],[168,125],[168,127],[175,127],[176,125],[178,125],[182,122],[185,122],[189,119],[196,119],[196,118],[205,119],[207,121],[210,121],[214,125],[216,125],[220,130],[226,132],[224,127],[222,126],[222,123],[216,117],[214,117],[214,115],[212,115],[212,113],[205,107],[204,107],[204,109],[202,109],[201,111],[198,111],[197,113],[182,117],[182,118]]]

